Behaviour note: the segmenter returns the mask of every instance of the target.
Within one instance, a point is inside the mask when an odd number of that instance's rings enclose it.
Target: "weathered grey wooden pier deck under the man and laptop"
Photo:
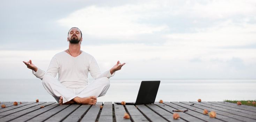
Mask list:
[[[155,102],[148,105],[116,105],[97,102],[96,105],[59,105],[56,102],[1,102],[0,122],[256,122],[256,107],[229,102]],[[40,108],[44,106],[43,108]],[[103,106],[100,109],[100,106]],[[173,110],[187,110],[173,112]],[[216,118],[203,114],[207,109]],[[130,119],[123,119],[125,113]],[[173,119],[178,113],[180,118]]]

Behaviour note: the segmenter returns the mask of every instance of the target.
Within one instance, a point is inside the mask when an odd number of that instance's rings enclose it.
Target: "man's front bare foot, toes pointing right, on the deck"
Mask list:
[[[73,99],[77,104],[89,104],[89,105],[95,105],[97,102],[96,96],[90,96],[85,98],[75,97]]]

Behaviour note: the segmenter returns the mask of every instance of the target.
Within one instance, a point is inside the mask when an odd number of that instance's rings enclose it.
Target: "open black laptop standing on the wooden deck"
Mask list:
[[[142,81],[136,102],[126,102],[126,105],[153,104],[157,97],[160,81]],[[121,105],[121,102],[115,102]]]

